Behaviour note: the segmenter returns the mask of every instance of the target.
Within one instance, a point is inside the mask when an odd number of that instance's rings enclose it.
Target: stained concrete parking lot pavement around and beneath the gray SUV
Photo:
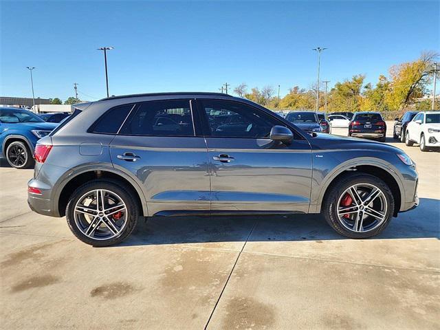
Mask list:
[[[439,329],[440,153],[420,206],[374,239],[319,215],[152,218],[92,248],[28,208],[33,170],[0,168],[2,329]],[[346,129],[333,133],[345,135]]]

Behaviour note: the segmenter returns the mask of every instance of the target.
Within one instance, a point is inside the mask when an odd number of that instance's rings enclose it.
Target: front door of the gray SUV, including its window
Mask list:
[[[283,125],[244,102],[199,100],[206,126],[212,211],[308,212],[311,148],[295,133],[290,145],[270,140]]]

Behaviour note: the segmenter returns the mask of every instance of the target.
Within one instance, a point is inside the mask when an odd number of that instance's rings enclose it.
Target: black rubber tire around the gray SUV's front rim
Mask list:
[[[353,184],[373,184],[377,188],[380,188],[384,193],[384,197],[387,202],[387,211],[385,220],[370,231],[366,232],[354,232],[353,230],[349,230],[344,225],[342,225],[338,213],[337,213],[337,203],[340,199],[342,193],[344,193],[347,188],[352,186]],[[393,217],[394,212],[394,197],[388,185],[378,177],[373,175],[364,174],[364,173],[353,173],[349,174],[346,177],[343,177],[338,181],[334,186],[332,186],[329,192],[326,193],[325,200],[322,203],[322,213],[325,217],[325,220],[331,228],[336,230],[342,236],[349,237],[351,239],[367,239],[369,237],[373,237],[377,234],[380,234],[388,223],[390,223],[391,218]]]

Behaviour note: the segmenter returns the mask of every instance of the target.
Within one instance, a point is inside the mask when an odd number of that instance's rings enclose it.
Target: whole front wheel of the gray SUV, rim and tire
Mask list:
[[[338,181],[324,201],[325,219],[351,239],[366,239],[386,228],[393,217],[394,198],[382,179],[353,174]]]

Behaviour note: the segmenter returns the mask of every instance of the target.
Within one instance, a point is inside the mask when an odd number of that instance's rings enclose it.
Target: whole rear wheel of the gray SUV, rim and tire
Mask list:
[[[133,232],[139,207],[129,188],[111,180],[94,180],[77,188],[66,217],[78,239],[94,246],[118,244]]]

